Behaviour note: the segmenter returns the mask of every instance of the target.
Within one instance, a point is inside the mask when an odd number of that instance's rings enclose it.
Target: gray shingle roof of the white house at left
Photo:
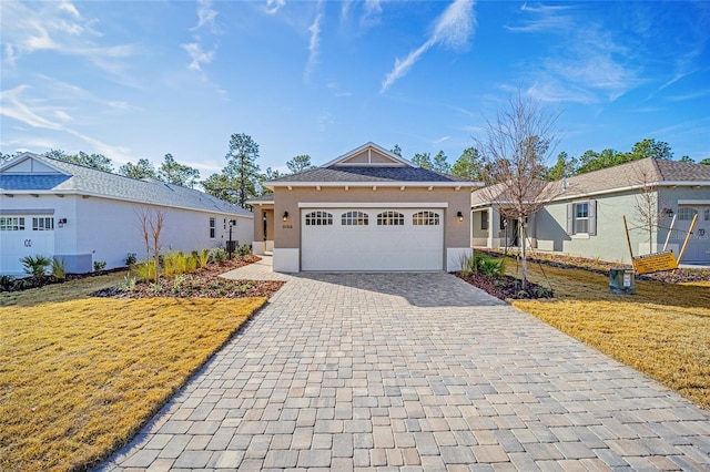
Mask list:
[[[146,203],[153,205],[189,208],[201,212],[223,213],[240,216],[253,216],[251,212],[229,202],[207,195],[204,192],[182,187],[164,182],[124,177],[83,165],[59,161],[36,154],[23,154],[16,157],[38,160],[61,174],[3,174],[0,173],[0,191],[43,191],[52,193],[75,193],[94,195],[121,201]],[[6,163],[4,168],[12,166],[16,160]]]

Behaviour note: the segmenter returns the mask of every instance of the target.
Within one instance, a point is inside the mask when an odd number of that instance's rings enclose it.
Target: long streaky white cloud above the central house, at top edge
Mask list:
[[[385,76],[381,93],[384,93],[398,79],[406,75],[422,55],[435,44],[452,49],[463,49],[474,33],[476,19],[474,18],[473,0],[456,0],[442,13],[429,38],[419,48],[413,50],[404,60],[395,59],[393,70]]]

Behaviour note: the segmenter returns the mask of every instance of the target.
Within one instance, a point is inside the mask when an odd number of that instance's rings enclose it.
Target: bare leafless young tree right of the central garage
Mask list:
[[[495,119],[486,119],[483,137],[475,137],[484,163],[481,196],[503,216],[517,218],[523,266],[521,283],[527,281],[526,218],[558,196],[558,184],[540,178],[555,151],[555,125],[559,112],[523,98],[520,91]],[[491,226],[493,227],[493,226]]]

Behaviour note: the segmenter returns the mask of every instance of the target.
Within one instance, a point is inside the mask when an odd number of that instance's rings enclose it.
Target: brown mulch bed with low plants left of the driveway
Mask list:
[[[132,289],[110,287],[93,293],[111,298],[247,298],[271,297],[284,285],[281,280],[230,280],[220,275],[261,260],[254,255],[236,257],[223,264],[210,264],[192,274],[160,277],[159,283],[138,283]]]

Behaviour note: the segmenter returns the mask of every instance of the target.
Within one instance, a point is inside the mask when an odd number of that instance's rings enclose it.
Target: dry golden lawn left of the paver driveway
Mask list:
[[[105,458],[266,301],[88,296],[121,279],[0,295],[0,470]]]

